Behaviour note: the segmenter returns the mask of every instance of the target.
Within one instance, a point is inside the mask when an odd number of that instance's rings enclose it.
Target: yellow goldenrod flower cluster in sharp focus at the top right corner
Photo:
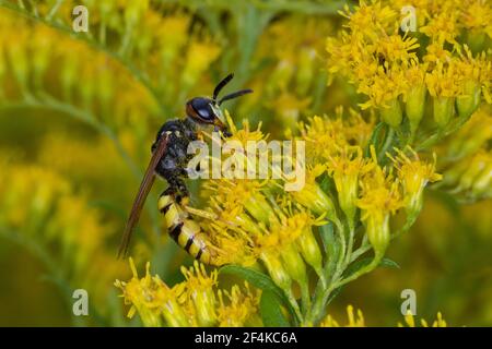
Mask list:
[[[417,27],[402,33],[405,5],[413,5]],[[481,100],[492,103],[487,1],[361,1],[342,14],[345,28],[327,40],[328,70],[348,79],[365,96],[361,107],[376,108],[406,142],[424,116],[448,133]]]

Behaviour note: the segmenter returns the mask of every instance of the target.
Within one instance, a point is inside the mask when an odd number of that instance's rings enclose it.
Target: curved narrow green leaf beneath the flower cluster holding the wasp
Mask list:
[[[224,265],[219,269],[219,273],[235,275],[248,281],[253,286],[261,289],[263,292],[270,292],[278,299],[279,304],[283,304],[289,310],[294,322],[297,321],[295,311],[289,302],[289,299],[285,297],[285,293],[273,282],[273,280],[268,275],[236,264]]]

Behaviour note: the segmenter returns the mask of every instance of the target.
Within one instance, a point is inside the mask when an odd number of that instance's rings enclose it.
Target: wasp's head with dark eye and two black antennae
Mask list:
[[[188,117],[200,123],[214,125],[216,129],[221,130],[225,136],[230,135],[230,133],[227,131],[227,127],[225,125],[220,105],[225,100],[253,92],[253,89],[242,89],[229,94],[218,100],[216,98],[219,93],[233,79],[233,74],[229,74],[215,86],[212,98],[195,97],[186,103],[186,113]]]

